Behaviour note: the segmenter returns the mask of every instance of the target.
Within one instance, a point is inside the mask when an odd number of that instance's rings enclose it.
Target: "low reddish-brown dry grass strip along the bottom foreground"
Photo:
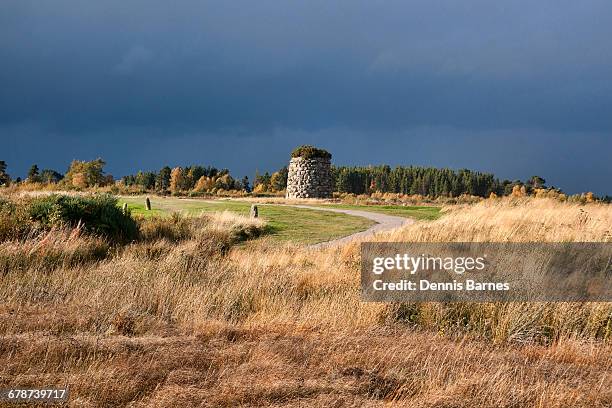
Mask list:
[[[2,376],[69,383],[73,406],[606,407],[610,349],[491,347],[393,330],[0,339]]]

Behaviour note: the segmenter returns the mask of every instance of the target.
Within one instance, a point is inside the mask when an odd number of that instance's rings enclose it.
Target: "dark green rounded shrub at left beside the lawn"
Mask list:
[[[115,241],[138,238],[138,225],[117,206],[117,199],[107,195],[89,197],[50,195],[33,199],[28,206],[31,220],[45,229],[75,227]]]

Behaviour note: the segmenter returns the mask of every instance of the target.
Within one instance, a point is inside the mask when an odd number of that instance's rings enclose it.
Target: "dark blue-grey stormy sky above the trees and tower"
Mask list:
[[[538,174],[612,193],[609,0],[4,0],[0,159]]]

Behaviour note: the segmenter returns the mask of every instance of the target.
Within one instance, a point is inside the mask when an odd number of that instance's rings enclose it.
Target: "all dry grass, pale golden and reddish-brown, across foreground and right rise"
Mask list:
[[[492,200],[376,239],[609,241],[610,208]],[[7,267],[0,387],[70,384],[73,406],[612,405],[610,304],[363,303],[357,243],[232,246],[253,221],[215,217],[93,264]]]

